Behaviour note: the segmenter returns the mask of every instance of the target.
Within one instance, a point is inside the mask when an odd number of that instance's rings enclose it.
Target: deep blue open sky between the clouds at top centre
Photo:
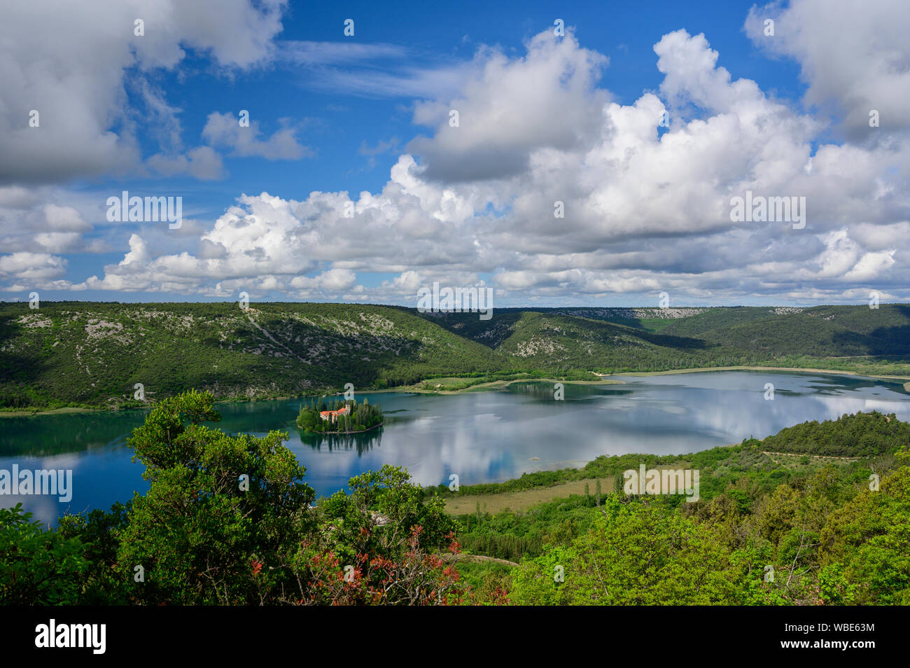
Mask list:
[[[224,202],[239,191],[263,190],[280,197],[301,197],[310,190],[376,191],[389,177],[397,154],[393,150],[371,161],[360,153],[366,144],[398,138],[403,147],[411,137],[427,134],[428,128],[411,122],[414,96],[389,89],[386,95],[374,91],[359,93],[343,83],[346,71],[358,74],[372,69],[404,77],[413,66],[454,66],[470,60],[479,45],[501,46],[506,53],[523,55],[522,43],[553,25],[561,17],[574,28],[586,48],[610,57],[602,86],[623,104],[631,104],[647,90],[660,86],[661,75],[654,66],[652,46],[662,35],[686,28],[691,34],[709,36],[713,48],[723,55],[721,64],[754,79],[763,89],[798,103],[804,93],[799,67],[792,61],[761,54],[743,32],[743,20],[750,2],[655,2],[646,15],[624,3],[578,3],[567,11],[562,2],[489,2],[449,5],[427,3],[377,4],[375,2],[315,3],[291,5],[283,21],[278,42],[335,42],[348,45],[391,45],[400,57],[384,58],[375,64],[339,66],[330,74],[322,67],[277,65],[251,76],[226,81],[214,73],[199,72],[184,79],[184,69],[163,73],[161,86],[168,101],[181,109],[185,136],[199,137],[207,115],[213,110],[248,109],[266,132],[278,127],[278,118],[295,118],[305,125],[301,141],[317,155],[292,165],[264,158],[228,158],[229,177],[199,194],[210,202],[207,214],[219,214]],[[343,21],[355,20],[353,38],[343,35]],[[206,68],[206,59],[193,59],[187,70]],[[318,83],[319,82],[319,83]],[[153,140],[149,140],[151,147]],[[137,182],[138,184],[142,181]],[[154,188],[196,189],[187,179],[157,183]],[[196,187],[194,187],[196,186]]]

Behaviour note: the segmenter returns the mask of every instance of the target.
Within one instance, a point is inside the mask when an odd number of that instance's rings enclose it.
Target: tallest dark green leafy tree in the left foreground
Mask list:
[[[128,440],[151,483],[133,500],[117,554],[136,602],[255,603],[291,582],[288,557],[312,523],[306,470],[281,444],[287,434],[200,424],[219,419],[213,400],[196,391],[164,400]]]

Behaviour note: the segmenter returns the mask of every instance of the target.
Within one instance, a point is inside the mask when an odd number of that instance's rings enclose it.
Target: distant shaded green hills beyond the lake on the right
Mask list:
[[[528,316],[536,316],[529,319]],[[910,306],[731,307],[714,309],[498,309],[490,320],[470,313],[432,318],[460,335],[528,352],[551,339],[584,352],[600,339],[609,347],[652,344],[693,359],[910,358]],[[567,327],[567,323],[573,327]],[[606,323],[610,323],[607,325]],[[545,336],[541,336],[541,329]],[[561,339],[562,338],[562,339]],[[573,346],[572,341],[579,343]],[[559,349],[559,348],[557,348]],[[648,363],[658,359],[645,356]]]

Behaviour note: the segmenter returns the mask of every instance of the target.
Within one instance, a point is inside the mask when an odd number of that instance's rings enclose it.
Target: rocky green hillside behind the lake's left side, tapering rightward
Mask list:
[[[187,388],[297,396],[501,369],[500,353],[403,309],[343,304],[43,303],[0,308],[5,406],[127,402]]]

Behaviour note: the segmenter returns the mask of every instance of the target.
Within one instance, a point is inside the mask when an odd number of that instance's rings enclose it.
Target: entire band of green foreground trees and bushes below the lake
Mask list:
[[[894,415],[804,423],[773,437],[773,451],[744,440],[566,470],[600,480],[640,463],[698,469],[697,502],[598,486],[452,518],[439,493],[391,466],[313,508],[286,436],[213,429],[212,401],[162,401],[135,430],[145,496],[47,531],[21,507],[0,511],[0,602],[910,604],[910,440]],[[810,442],[874,454],[796,454],[794,467],[771,456]]]

